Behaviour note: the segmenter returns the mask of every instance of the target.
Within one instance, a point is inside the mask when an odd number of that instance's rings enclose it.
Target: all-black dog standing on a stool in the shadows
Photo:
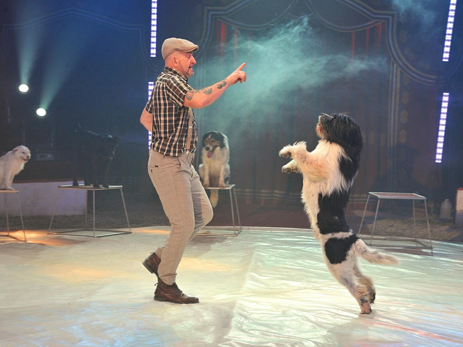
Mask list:
[[[74,180],[72,185],[79,185],[77,174],[81,171],[85,186],[93,185],[94,188],[100,188],[102,185],[107,188],[106,177],[109,164],[114,158],[118,143],[119,137],[95,134],[92,131],[82,130],[80,124],[76,124],[73,134]]]

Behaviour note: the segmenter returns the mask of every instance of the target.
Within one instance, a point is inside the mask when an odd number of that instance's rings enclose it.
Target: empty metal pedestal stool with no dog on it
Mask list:
[[[365,218],[365,212],[367,211],[368,201],[370,197],[374,197],[378,199],[378,203],[376,204],[376,212],[375,212],[375,220],[373,221],[373,229],[371,229],[371,236],[370,242],[367,243],[369,246],[376,246],[376,247],[398,247],[398,248],[422,248],[422,249],[431,249],[432,252],[432,240],[431,240],[431,229],[429,227],[429,217],[428,217],[428,207],[426,204],[426,198],[424,196],[414,194],[414,193],[379,193],[379,192],[369,192],[367,196],[367,202],[365,204],[365,209],[363,210],[362,222],[360,222],[360,228],[358,229],[358,233],[362,230],[363,219]],[[403,238],[403,237],[380,237],[380,236],[373,236],[375,232],[375,225],[376,225],[376,218],[378,217],[378,209],[379,203],[382,199],[397,199],[397,200],[412,200],[413,203],[413,231],[414,231],[414,238]],[[426,223],[428,226],[428,235],[429,235],[429,246],[425,245],[423,242],[419,241],[416,238],[416,222],[415,222],[415,200],[423,200],[425,204],[425,213],[426,213]],[[407,246],[407,245],[399,245],[399,244],[374,244],[372,243],[373,240],[387,240],[387,241],[411,241],[415,242],[418,246]]]

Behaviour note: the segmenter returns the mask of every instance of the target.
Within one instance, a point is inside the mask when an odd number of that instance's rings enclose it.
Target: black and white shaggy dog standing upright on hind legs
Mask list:
[[[363,147],[360,127],[346,114],[322,113],[316,132],[321,140],[312,152],[307,152],[305,142],[280,151],[281,156],[292,159],[282,171],[302,174],[302,201],[328,270],[356,298],[361,313],[369,314],[370,304],[375,301],[375,286],[360,270],[357,257],[385,265],[396,265],[399,260],[369,249],[344,217]]]

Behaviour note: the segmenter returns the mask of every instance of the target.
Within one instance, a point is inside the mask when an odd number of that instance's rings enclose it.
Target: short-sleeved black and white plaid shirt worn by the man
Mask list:
[[[153,114],[151,148],[162,155],[178,156],[185,152],[188,131],[188,107],[183,100],[194,90],[188,79],[173,68],[164,67],[157,76],[146,111]],[[193,110],[192,110],[193,114]],[[190,152],[196,150],[198,129],[193,116]]]

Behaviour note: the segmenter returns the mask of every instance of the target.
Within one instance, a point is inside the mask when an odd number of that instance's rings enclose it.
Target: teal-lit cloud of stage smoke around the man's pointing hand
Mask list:
[[[330,47],[328,42],[326,47],[322,34],[310,26],[307,17],[275,26],[265,35],[248,37],[247,34],[238,33],[238,37],[236,62],[217,56],[206,61],[201,59],[198,69],[205,70],[206,81],[198,86],[198,81],[194,78],[191,80],[195,88],[206,87],[246,62],[243,70],[247,74],[247,81],[229,87],[224,96],[210,106],[214,118],[219,118],[225,132],[230,127],[249,126],[249,117],[244,117],[246,114],[254,115],[253,123],[256,119],[263,123],[272,122],[268,115],[275,113],[275,106],[282,112],[294,107],[296,92],[300,92],[297,93],[299,96],[307,97],[316,87],[352,78],[362,72],[388,71],[382,57],[352,58],[350,46],[344,50]],[[224,56],[233,60],[234,40],[224,50]]]

